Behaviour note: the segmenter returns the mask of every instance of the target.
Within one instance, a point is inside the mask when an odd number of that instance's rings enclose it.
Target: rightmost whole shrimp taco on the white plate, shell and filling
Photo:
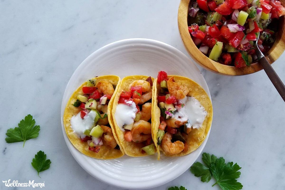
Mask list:
[[[153,95],[154,144],[166,156],[196,150],[211,127],[213,108],[205,90],[189,78],[158,72]]]

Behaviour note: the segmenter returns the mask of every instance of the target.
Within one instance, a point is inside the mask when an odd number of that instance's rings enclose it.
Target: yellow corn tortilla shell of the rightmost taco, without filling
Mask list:
[[[154,144],[156,145],[157,150],[161,150],[166,156],[184,156],[186,154],[189,154],[190,152],[193,152],[194,150],[196,150],[201,144],[202,142],[205,140],[210,127],[211,127],[211,123],[212,123],[212,119],[213,119],[213,107],[212,107],[212,102],[209,98],[209,96],[207,95],[207,93],[205,92],[205,90],[198,85],[196,82],[194,82],[193,80],[187,78],[187,77],[182,77],[182,76],[176,76],[176,75],[168,75],[169,77],[174,77],[174,81],[178,84],[182,84],[186,87],[189,88],[189,93],[187,94],[187,96],[192,96],[194,98],[196,98],[201,105],[205,108],[205,110],[207,111],[207,116],[205,117],[205,120],[201,126],[201,128],[196,128],[196,129],[192,129],[189,134],[188,134],[188,138],[187,138],[187,143],[189,145],[189,149],[187,152],[180,152],[178,154],[174,154],[174,155],[167,155],[162,148],[160,147],[160,145],[157,144],[157,131],[158,131],[158,127],[160,124],[160,108],[158,107],[157,103],[157,95],[160,92],[160,85],[157,84],[156,80],[154,81],[154,93],[153,93],[153,97],[152,99],[154,100],[153,103],[153,119],[154,119],[154,127],[153,127],[153,133],[154,133]],[[187,109],[187,108],[186,108]],[[160,154],[158,151],[158,160],[160,158]]]

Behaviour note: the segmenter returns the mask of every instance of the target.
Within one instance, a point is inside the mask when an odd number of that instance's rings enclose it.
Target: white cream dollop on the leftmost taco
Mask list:
[[[93,128],[96,115],[97,113],[93,110],[87,113],[84,119],[80,117],[80,112],[76,116],[74,115],[70,120],[73,132],[80,138],[85,137],[86,135],[84,135],[83,132],[87,129],[91,130]]]

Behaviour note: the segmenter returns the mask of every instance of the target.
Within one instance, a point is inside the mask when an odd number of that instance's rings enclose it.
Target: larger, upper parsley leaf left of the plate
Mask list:
[[[5,138],[7,143],[13,143],[13,142],[24,142],[23,147],[25,146],[26,140],[29,140],[31,138],[38,137],[38,132],[40,131],[40,126],[35,125],[35,120],[33,117],[29,114],[25,117],[25,119],[22,119],[20,123],[18,124],[19,127],[10,128],[7,130],[7,137]]]

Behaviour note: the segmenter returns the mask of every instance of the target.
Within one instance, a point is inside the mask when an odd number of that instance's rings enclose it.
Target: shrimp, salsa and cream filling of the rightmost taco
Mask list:
[[[156,92],[160,124],[156,140],[164,154],[182,156],[189,153],[192,132],[202,130],[208,113],[191,95],[189,86],[184,85],[187,82],[178,83],[174,77],[164,71],[158,73]]]

